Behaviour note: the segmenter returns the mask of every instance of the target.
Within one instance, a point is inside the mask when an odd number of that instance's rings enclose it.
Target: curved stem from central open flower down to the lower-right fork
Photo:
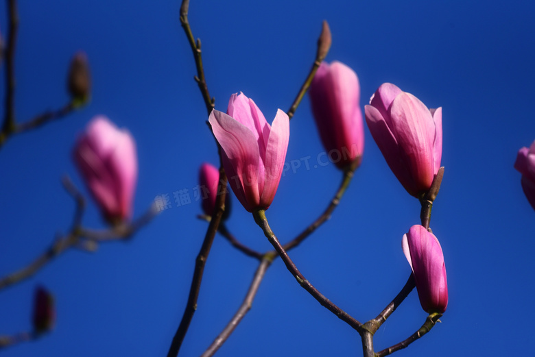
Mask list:
[[[351,317],[347,312],[336,306],[331,300],[327,299],[318,289],[316,289],[306,278],[305,276],[300,273],[300,271],[297,269],[296,264],[292,261],[292,259],[289,258],[288,254],[286,253],[285,249],[281,245],[281,243],[278,241],[278,238],[275,236],[273,231],[270,228],[270,225],[268,224],[268,219],[265,218],[265,211],[264,210],[256,210],[253,212],[254,221],[257,222],[259,227],[261,227],[262,231],[264,232],[264,235],[266,238],[268,238],[268,241],[273,245],[275,250],[277,251],[278,255],[283,260],[284,264],[286,265],[286,268],[294,278],[298,281],[300,286],[304,288],[306,291],[309,292],[310,295],[314,299],[316,299],[324,308],[327,310],[333,312],[339,319],[342,321],[348,323],[352,328],[359,331],[362,323]]]

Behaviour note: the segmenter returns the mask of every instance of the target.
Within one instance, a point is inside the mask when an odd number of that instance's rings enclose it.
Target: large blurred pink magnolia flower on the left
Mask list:
[[[73,157],[104,217],[112,223],[132,216],[137,179],[134,138],[106,116],[95,116],[78,138]]]

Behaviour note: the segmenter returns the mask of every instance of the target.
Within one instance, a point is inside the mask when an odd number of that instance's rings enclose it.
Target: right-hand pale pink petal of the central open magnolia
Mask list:
[[[278,109],[271,127],[268,147],[265,151],[265,177],[260,206],[267,209],[278,188],[283,173],[284,160],[288,149],[289,118],[282,110]]]

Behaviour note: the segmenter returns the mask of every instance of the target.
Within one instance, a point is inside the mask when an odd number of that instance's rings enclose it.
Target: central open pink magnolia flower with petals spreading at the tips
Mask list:
[[[227,114],[213,110],[209,122],[223,149],[228,184],[243,207],[268,209],[283,173],[289,119],[277,110],[270,126],[257,105],[243,93],[233,94]]]

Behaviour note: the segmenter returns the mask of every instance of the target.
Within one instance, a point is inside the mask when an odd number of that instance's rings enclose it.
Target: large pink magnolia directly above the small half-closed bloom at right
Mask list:
[[[426,193],[440,169],[442,108],[424,103],[394,84],[382,84],[364,108],[366,123],[388,166],[408,193]]]

